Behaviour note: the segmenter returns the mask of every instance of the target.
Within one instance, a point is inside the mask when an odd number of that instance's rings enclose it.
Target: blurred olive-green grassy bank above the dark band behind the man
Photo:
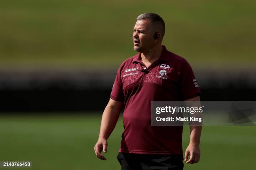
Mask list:
[[[166,22],[163,44],[193,66],[253,66],[253,0],[3,0],[1,67],[118,67],[135,54],[136,17]]]

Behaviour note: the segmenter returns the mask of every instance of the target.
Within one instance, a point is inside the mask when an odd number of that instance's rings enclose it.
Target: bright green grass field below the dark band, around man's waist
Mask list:
[[[107,161],[102,161],[93,151],[100,119],[97,113],[0,116],[0,161],[32,161],[31,170],[119,170],[122,120],[108,140]],[[185,127],[184,150],[188,132]],[[185,169],[255,170],[255,150],[255,126],[204,127],[200,163]]]

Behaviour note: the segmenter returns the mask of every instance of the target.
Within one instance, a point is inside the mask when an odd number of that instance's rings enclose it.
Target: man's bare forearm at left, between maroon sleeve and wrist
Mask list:
[[[113,105],[113,103],[111,102],[108,103],[102,114],[99,140],[107,140],[109,138],[110,134],[113,132],[115,128],[121,110],[121,103],[115,105]]]

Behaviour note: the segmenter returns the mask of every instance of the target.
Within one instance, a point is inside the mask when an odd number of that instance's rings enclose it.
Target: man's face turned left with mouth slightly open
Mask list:
[[[154,32],[151,20],[137,20],[133,28],[133,49],[148,53],[154,46]]]

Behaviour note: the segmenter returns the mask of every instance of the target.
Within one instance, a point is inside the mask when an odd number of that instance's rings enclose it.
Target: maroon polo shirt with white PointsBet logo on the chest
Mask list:
[[[182,126],[151,126],[151,101],[187,100],[200,90],[189,63],[162,47],[146,72],[141,53],[118,69],[110,98],[124,102],[120,153],[182,154]]]

